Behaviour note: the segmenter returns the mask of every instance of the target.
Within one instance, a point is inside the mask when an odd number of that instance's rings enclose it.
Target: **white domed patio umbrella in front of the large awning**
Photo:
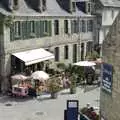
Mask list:
[[[49,75],[44,71],[35,71],[32,73],[31,77],[34,80],[40,80],[40,81],[44,81],[44,80],[49,79]]]

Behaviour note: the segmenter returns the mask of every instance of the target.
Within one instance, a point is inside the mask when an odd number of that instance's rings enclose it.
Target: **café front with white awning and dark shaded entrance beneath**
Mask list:
[[[43,48],[13,53],[11,56],[11,74],[23,72],[30,74],[37,70],[46,71],[51,59],[54,59],[54,54]]]

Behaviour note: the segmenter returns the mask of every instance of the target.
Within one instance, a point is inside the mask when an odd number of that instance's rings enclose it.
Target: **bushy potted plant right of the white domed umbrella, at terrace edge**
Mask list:
[[[57,77],[51,78],[48,82],[48,92],[51,94],[51,98],[55,99],[58,96],[58,92],[61,90]]]

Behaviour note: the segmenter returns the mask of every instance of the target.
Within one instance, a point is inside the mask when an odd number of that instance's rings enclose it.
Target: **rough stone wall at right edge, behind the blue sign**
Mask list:
[[[101,88],[100,111],[104,120],[120,120],[120,13],[103,42],[103,61],[113,66],[112,93]]]

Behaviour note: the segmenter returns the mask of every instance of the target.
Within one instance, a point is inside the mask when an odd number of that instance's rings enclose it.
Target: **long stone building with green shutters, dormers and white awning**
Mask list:
[[[79,0],[0,0],[1,89],[7,89],[13,72],[25,67],[40,69],[51,58],[52,68],[84,59],[95,35],[90,5]]]

